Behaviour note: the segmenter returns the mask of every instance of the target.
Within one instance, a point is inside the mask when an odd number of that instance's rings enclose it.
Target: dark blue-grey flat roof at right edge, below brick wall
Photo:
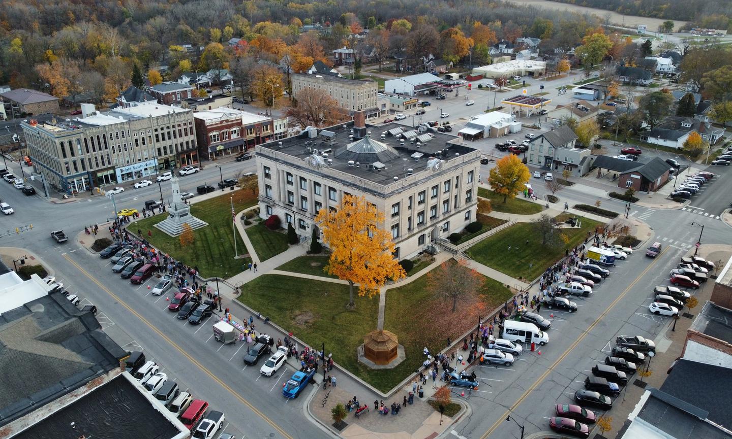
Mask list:
[[[728,430],[732,430],[731,388],[731,369],[685,359],[673,364],[661,386],[663,392],[709,412],[707,419]]]

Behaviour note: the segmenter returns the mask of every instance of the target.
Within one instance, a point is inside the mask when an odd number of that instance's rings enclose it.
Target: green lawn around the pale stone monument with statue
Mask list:
[[[204,278],[231,277],[242,271],[242,264],[251,260],[249,258],[234,259],[236,255],[234,254],[234,229],[231,222],[231,196],[234,197],[236,212],[257,204],[256,194],[242,189],[195,203],[190,209],[191,214],[206,221],[209,225],[194,230],[195,240],[186,248],[180,245],[178,237],[168,236],[154,227],[154,224],[168,218],[165,213],[135,221],[127,226],[127,229],[134,234],[141,229],[144,237],[147,237],[148,230],[152,231],[152,237],[148,238],[152,245],[184,264],[191,267],[197,266]],[[247,248],[238,232],[236,233],[236,250],[239,255],[247,254]]]

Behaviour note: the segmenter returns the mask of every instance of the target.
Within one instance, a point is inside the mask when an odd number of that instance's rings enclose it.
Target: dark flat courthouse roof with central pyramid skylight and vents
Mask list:
[[[265,143],[257,148],[275,150],[279,160],[306,169],[311,167],[310,161],[313,156],[319,154],[317,159],[321,162],[319,167],[326,169],[325,172],[327,169],[335,169],[350,174],[352,180],[345,182],[350,185],[357,185],[359,180],[387,185],[394,183],[395,177],[398,179],[406,177],[409,169],[412,169],[414,175],[432,172],[431,169],[427,169],[427,162],[430,158],[443,162],[462,160],[462,156],[475,151],[474,148],[467,145],[448,144],[448,142],[462,142],[460,137],[440,132],[428,134],[424,128],[420,132],[415,132],[410,140],[405,140],[404,145],[401,145],[399,137],[389,134],[392,129],[404,128],[398,123],[367,126],[366,130],[370,134],[365,134],[365,137],[359,140],[357,137],[350,137],[351,134],[354,134],[351,131],[353,124],[353,121],[348,121],[326,128],[326,135],[318,130],[315,137],[310,137],[310,130],[306,130],[296,137]],[[370,137],[366,139],[366,136]],[[326,139],[332,139],[332,142],[325,141]],[[414,143],[411,140],[414,140]],[[417,142],[420,142],[421,145],[417,146]],[[327,156],[322,156],[324,151],[327,151]],[[419,159],[413,156],[415,153],[421,154]],[[332,164],[328,164],[329,160],[332,160]],[[351,166],[349,166],[349,160],[353,161]]]

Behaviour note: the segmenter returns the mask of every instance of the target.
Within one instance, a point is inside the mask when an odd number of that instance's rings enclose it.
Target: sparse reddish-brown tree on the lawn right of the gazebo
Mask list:
[[[452,312],[458,310],[458,300],[473,294],[485,283],[479,272],[465,261],[446,261],[427,273],[427,289],[438,297],[452,300]]]

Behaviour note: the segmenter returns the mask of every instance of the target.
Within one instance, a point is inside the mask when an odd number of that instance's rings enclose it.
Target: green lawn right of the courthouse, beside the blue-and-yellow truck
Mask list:
[[[566,215],[559,215],[557,221],[564,221]],[[542,245],[541,237],[531,223],[518,223],[482,240],[468,248],[466,253],[472,259],[488,267],[495,268],[513,278],[534,280],[551,264],[564,256],[564,250],[574,248],[587,237],[587,232],[594,232],[601,223],[588,218],[581,218],[582,226],[578,229],[562,229],[567,235],[567,244],[561,241],[555,245]],[[526,240],[529,244],[526,245]],[[510,249],[509,249],[510,246]]]

